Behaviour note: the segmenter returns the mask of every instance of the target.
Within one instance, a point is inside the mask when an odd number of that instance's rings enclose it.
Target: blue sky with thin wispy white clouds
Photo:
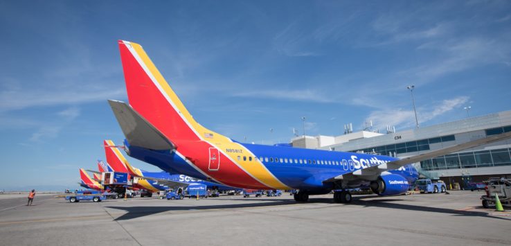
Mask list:
[[[412,84],[420,125],[511,109],[509,1],[0,1],[0,33],[0,190],[75,188],[123,140],[118,39],[240,141],[413,128]]]

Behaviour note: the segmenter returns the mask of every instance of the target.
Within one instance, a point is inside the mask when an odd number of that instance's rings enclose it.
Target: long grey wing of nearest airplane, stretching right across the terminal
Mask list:
[[[388,161],[387,163],[380,164],[377,166],[370,166],[368,168],[355,170],[352,173],[347,173],[344,175],[339,175],[337,177],[333,177],[330,179],[325,180],[325,182],[328,181],[334,181],[336,179],[346,179],[346,180],[354,180],[354,179],[366,179],[366,180],[374,180],[376,179],[381,173],[383,173],[386,170],[395,170],[397,168],[400,168],[402,166],[406,166],[408,164],[413,164],[418,161],[424,161],[426,159],[431,159],[433,157],[439,157],[442,155],[447,155],[452,152],[458,152],[460,150],[466,150],[469,148],[474,148],[477,146],[482,146],[488,143],[494,143],[498,141],[503,141],[505,139],[511,138],[511,132],[505,132],[501,134],[492,135],[490,137],[485,137],[483,139],[477,139],[474,141],[469,141],[467,143],[461,143],[456,146],[451,146],[447,148],[442,148],[440,150],[432,150],[429,152],[426,152],[424,154],[420,155],[414,155],[412,157],[406,157],[403,159],[395,160],[395,161]]]

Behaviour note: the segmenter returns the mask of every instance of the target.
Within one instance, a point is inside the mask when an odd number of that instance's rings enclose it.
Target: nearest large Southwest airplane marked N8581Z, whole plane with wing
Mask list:
[[[142,46],[118,44],[129,104],[109,104],[125,134],[125,151],[170,173],[241,188],[296,189],[297,202],[334,191],[335,202],[347,203],[350,188],[405,193],[418,178],[409,164],[511,137],[506,132],[405,159],[240,143],[199,125]]]

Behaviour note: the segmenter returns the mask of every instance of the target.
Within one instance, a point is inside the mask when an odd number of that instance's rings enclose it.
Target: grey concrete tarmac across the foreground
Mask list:
[[[390,197],[332,195],[70,203],[0,195],[1,245],[511,245],[511,212],[481,192]],[[505,208],[506,209],[506,208]],[[507,208],[509,209],[509,208]]]

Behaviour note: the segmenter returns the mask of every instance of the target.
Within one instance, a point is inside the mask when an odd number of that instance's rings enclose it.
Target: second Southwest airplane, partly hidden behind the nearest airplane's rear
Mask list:
[[[208,188],[212,190],[216,189],[218,191],[233,191],[237,189],[231,186],[223,186],[200,179],[194,179],[186,175],[170,175],[165,171],[147,172],[145,170],[135,168],[129,164],[127,159],[118,150],[118,146],[116,146],[113,141],[105,140],[103,143],[105,144],[105,155],[109,166],[111,165],[116,172],[128,173],[132,177],[136,177],[137,182],[133,185],[137,188],[156,192],[164,191],[165,188],[168,188],[168,186],[177,186],[179,188],[179,186],[186,187],[189,184],[206,184]]]

